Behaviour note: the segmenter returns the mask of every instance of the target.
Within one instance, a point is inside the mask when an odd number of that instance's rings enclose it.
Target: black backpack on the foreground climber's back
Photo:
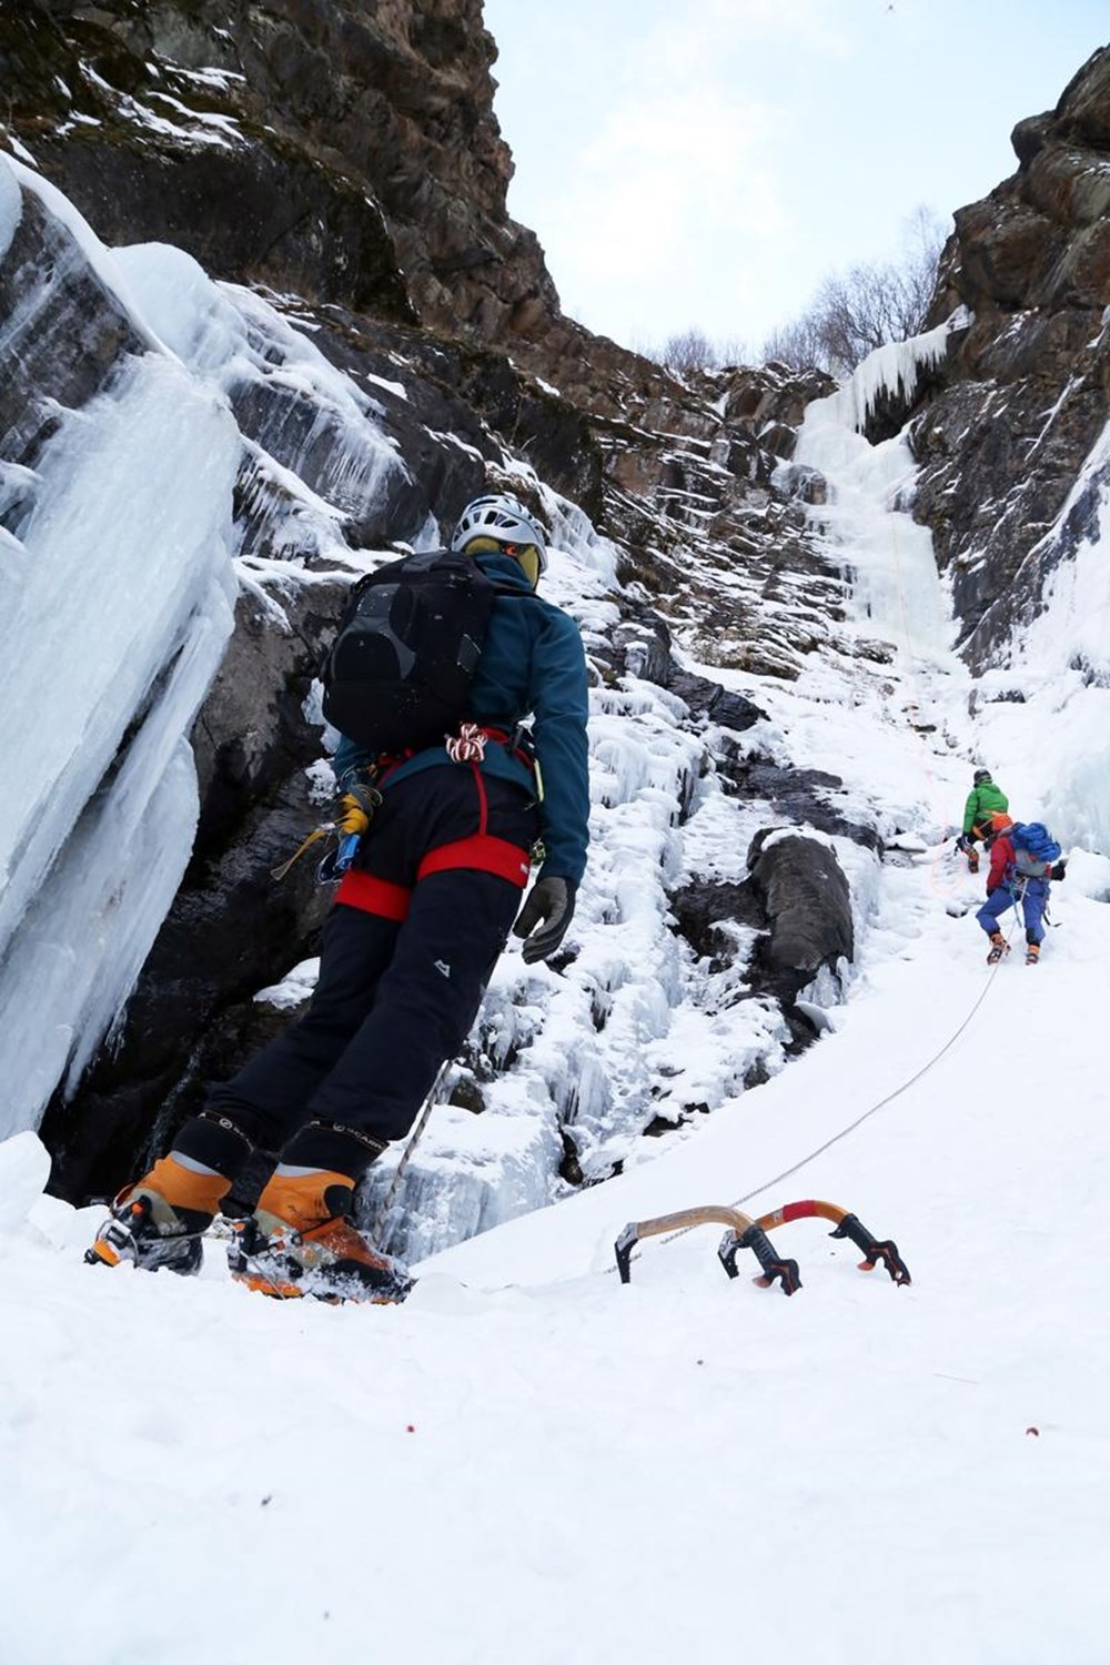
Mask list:
[[[496,596],[521,593],[451,549],[368,573],[321,668],[325,718],[373,753],[439,744],[471,714]]]

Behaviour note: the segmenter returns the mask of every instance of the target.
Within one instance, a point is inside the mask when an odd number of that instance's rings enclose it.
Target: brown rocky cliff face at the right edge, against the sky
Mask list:
[[[955,215],[934,321],[962,305],[969,326],[912,426],[915,513],[975,669],[1038,609],[1105,468],[1072,498],[1110,410],[1110,48],[1017,125],[1013,150],[1012,178]]]

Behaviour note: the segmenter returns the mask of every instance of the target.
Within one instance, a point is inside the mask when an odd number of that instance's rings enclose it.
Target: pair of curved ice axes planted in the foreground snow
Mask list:
[[[696,1225],[709,1225],[716,1220],[729,1227],[717,1247],[717,1259],[729,1277],[739,1277],[736,1265],[739,1250],[751,1249],[761,1267],[756,1284],[761,1289],[771,1289],[779,1282],[782,1294],[792,1295],[802,1287],[797,1260],[780,1259],[774,1252],[767,1232],[785,1225],[789,1220],[814,1217],[834,1220],[837,1229],[829,1235],[849,1237],[857,1249],[864,1250],[864,1259],[859,1262],[860,1272],[874,1272],[879,1260],[882,1260],[895,1284],[910,1282],[909,1267],[899,1254],[899,1245],[890,1237],[880,1242],[872,1237],[855,1214],[840,1209],[835,1202],[819,1202],[812,1197],[805,1202],[787,1202],[780,1209],[772,1209],[771,1214],[761,1214],[756,1220],[749,1214],[741,1214],[736,1207],[722,1207],[719,1204],[709,1204],[701,1209],[682,1209],[679,1214],[661,1214],[654,1220],[629,1220],[612,1245],[621,1282],[629,1284],[632,1279],[632,1249],[642,1237],[659,1237],[662,1232],[674,1232],[677,1235],[692,1230]]]

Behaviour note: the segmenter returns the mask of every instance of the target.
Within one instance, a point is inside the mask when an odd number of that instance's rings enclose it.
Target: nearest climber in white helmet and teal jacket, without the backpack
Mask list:
[[[278,1166],[230,1250],[243,1282],[325,1299],[388,1299],[403,1282],[349,1222],[354,1187],[463,1046],[509,927],[526,961],[556,952],[587,844],[586,658],[574,621],[534,594],[544,536],[516,498],[486,496],[451,549],[516,593],[493,603],[469,689],[478,733],[453,748],[459,761],[446,744],[398,763],[343,739],[339,824],[366,836],[325,924],[310,1009],[210,1091],[115,1199],[87,1259],[196,1272],[201,1234],[263,1149]],[[518,729],[529,713],[531,741]],[[538,839],[543,866],[516,917]]]

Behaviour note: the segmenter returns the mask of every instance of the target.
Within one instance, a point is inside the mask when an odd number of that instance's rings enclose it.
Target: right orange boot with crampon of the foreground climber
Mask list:
[[[353,1199],[346,1174],[278,1169],[251,1219],[235,1227],[231,1277],[281,1300],[404,1300],[413,1280],[346,1219]]]

